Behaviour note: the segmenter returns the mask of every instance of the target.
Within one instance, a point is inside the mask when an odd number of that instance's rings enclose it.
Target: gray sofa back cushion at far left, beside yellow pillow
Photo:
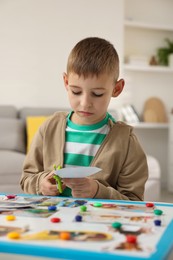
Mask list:
[[[0,149],[25,153],[25,126],[21,119],[0,118]]]

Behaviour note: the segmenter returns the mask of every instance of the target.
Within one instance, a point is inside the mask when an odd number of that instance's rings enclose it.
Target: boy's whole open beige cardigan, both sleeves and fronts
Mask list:
[[[54,164],[63,167],[66,117],[66,112],[55,113],[35,135],[23,165],[20,184],[24,192],[40,194],[41,179]],[[143,200],[148,178],[146,156],[131,126],[112,120],[109,124],[109,134],[91,163],[102,169],[90,176],[99,185],[95,198]]]

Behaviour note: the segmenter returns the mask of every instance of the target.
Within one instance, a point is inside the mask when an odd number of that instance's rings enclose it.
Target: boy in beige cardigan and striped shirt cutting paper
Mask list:
[[[72,49],[64,85],[72,111],[57,112],[39,129],[26,156],[22,189],[31,194],[60,195],[53,165],[97,166],[87,178],[63,179],[63,196],[143,200],[148,177],[146,156],[133,128],[107,112],[120,95],[119,58],[108,41],[90,37]]]

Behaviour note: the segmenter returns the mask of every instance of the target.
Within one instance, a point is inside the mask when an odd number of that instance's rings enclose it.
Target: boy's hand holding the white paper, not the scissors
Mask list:
[[[90,178],[65,178],[63,183],[71,188],[76,198],[93,198],[98,190],[98,183]]]

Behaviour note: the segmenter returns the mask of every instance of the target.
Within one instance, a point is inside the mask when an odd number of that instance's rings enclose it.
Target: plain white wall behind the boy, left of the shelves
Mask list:
[[[0,0],[0,104],[69,107],[62,73],[88,36],[111,41],[122,60],[123,1]]]

